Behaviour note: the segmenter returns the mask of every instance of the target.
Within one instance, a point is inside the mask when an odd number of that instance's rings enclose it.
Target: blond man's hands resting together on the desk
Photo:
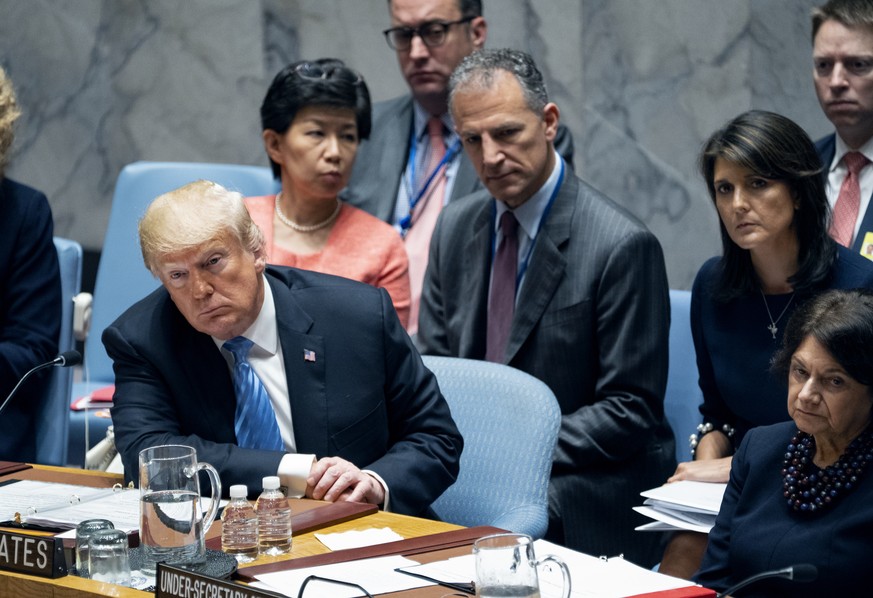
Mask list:
[[[373,476],[339,457],[319,459],[306,479],[306,496],[316,500],[385,502],[385,489]]]

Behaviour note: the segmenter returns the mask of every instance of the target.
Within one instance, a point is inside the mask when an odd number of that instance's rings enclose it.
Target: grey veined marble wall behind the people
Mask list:
[[[576,140],[577,173],[658,236],[671,286],[719,251],[700,144],[749,108],[828,132],[812,89],[813,0],[485,0],[490,47],[531,52]],[[24,109],[8,174],[56,233],[99,250],[135,160],[266,164],[258,107],[299,58],[336,56],[374,99],[404,83],[385,0],[0,0],[0,63]]]

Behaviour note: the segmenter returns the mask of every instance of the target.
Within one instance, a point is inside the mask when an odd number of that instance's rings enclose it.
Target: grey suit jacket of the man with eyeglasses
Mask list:
[[[370,138],[358,148],[349,185],[341,194],[345,201],[389,224],[394,224],[397,190],[406,170],[413,120],[411,95],[373,106]],[[555,147],[572,170],[573,137],[563,125],[558,127]],[[482,189],[467,154],[462,152],[460,160],[450,202]]]

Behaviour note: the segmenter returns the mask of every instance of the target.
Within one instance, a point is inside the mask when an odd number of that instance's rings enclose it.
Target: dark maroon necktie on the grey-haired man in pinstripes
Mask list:
[[[503,240],[494,254],[491,298],[488,301],[488,332],[485,359],[502,363],[515,313],[515,283],[518,276],[518,220],[507,210],[500,216]]]

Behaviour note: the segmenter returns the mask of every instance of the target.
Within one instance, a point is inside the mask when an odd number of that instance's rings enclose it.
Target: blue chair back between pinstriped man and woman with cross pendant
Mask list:
[[[697,356],[691,338],[691,291],[670,290],[670,369],[664,412],[676,437],[676,460],[691,459],[688,437],[701,422],[703,393],[697,383]]]

